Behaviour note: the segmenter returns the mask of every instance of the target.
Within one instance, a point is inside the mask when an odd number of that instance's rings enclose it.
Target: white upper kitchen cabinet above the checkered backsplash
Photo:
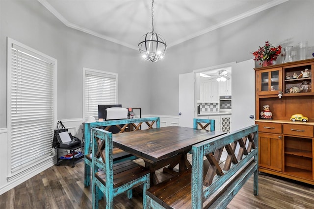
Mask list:
[[[218,82],[200,83],[200,103],[218,102]]]

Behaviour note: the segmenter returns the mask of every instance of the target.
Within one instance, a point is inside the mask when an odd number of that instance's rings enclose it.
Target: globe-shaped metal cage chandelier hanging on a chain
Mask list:
[[[139,52],[145,60],[157,62],[166,53],[167,45],[164,38],[154,32],[154,0],[152,0],[152,32],[146,33],[138,43]]]

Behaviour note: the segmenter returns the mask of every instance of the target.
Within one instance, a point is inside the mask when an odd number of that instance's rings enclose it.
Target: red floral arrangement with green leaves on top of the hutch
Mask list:
[[[273,60],[276,60],[278,55],[281,53],[281,46],[274,47],[272,46],[269,41],[265,42],[265,46],[261,47],[257,51],[252,52],[254,55],[255,61],[267,61],[272,62]],[[260,63],[261,65],[261,63]]]

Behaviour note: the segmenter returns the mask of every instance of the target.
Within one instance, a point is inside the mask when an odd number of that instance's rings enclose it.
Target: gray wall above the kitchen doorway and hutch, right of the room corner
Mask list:
[[[155,79],[151,80],[154,92],[151,113],[178,116],[181,73],[253,59],[250,52],[263,46],[267,40],[275,46],[297,46],[300,41],[308,41],[309,46],[314,46],[313,9],[313,0],[289,0],[170,47],[152,72],[151,77]],[[162,35],[166,37],[166,34]]]

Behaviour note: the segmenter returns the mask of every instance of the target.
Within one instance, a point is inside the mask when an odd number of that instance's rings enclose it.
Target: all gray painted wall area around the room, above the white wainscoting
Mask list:
[[[6,127],[6,37],[58,60],[58,119],[82,117],[82,67],[117,72],[123,106],[177,116],[179,74],[253,59],[250,52],[266,40],[314,46],[313,8],[313,0],[289,0],[172,46],[163,60],[151,63],[135,50],[66,27],[37,0],[0,0],[0,128]]]

